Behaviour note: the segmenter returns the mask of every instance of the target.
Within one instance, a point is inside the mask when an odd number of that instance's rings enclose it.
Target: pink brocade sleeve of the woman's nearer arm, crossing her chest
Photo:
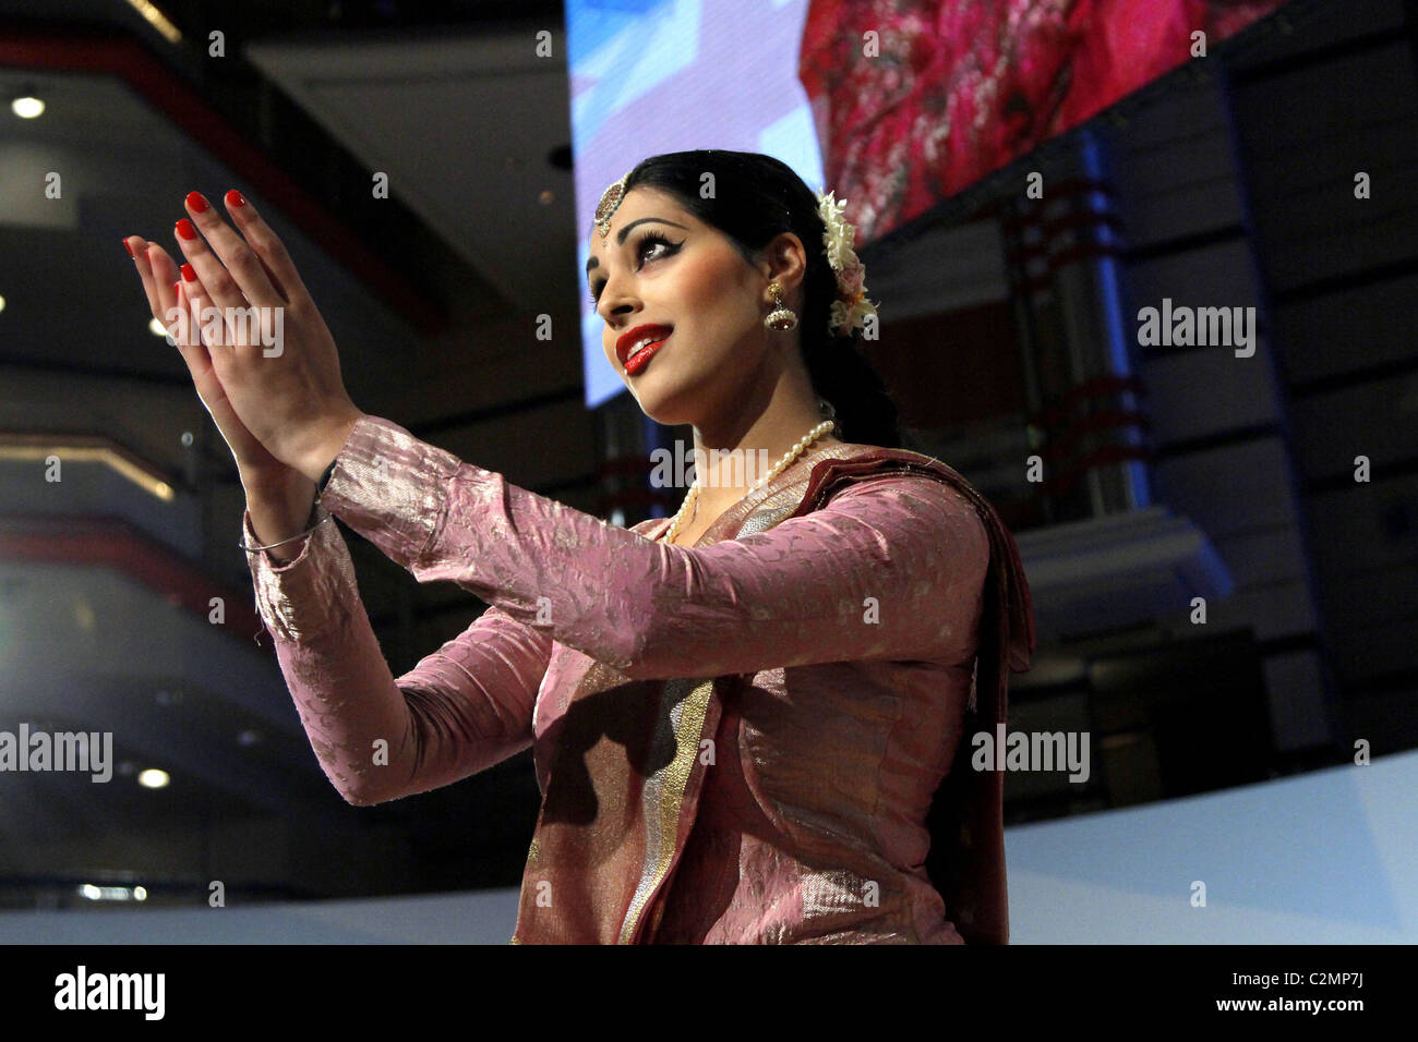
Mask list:
[[[631,679],[973,652],[988,534],[954,489],[858,482],[766,532],[679,547],[362,417],[322,502],[420,583],[454,581]]]

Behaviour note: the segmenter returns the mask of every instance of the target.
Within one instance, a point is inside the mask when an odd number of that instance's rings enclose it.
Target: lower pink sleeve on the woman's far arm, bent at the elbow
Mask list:
[[[258,542],[251,515],[245,539]],[[332,520],[278,564],[250,554],[257,610],[320,767],[367,805],[447,785],[532,744],[532,709],[552,641],[496,607],[394,678]],[[387,747],[376,756],[376,743]]]

